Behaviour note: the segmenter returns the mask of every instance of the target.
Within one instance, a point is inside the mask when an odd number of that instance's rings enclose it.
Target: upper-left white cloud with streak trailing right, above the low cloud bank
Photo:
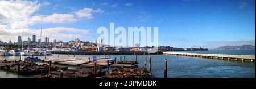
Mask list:
[[[68,14],[35,14],[40,7],[50,4],[49,2],[38,3],[37,1],[0,0],[0,25],[7,24],[5,28],[24,29],[38,23],[72,23],[80,18],[92,19],[93,14],[104,12],[101,9],[93,10],[92,8],[83,8],[82,10]],[[56,8],[56,6],[57,5],[55,5],[54,8]],[[33,14],[35,15],[32,16]]]

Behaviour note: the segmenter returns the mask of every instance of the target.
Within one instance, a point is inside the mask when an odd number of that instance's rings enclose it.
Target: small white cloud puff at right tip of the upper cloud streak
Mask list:
[[[86,19],[92,19],[93,18],[92,14],[102,13],[102,12],[104,11],[102,11],[101,9],[93,10],[92,8],[84,8],[82,10],[76,11],[75,14],[79,18],[84,17]]]

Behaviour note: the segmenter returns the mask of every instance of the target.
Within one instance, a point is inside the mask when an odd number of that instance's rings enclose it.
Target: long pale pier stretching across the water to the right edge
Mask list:
[[[167,55],[201,57],[207,59],[222,59],[222,60],[235,60],[235,61],[255,61],[255,55],[228,55],[228,54],[199,54],[199,53],[186,53],[186,52],[163,52]]]

